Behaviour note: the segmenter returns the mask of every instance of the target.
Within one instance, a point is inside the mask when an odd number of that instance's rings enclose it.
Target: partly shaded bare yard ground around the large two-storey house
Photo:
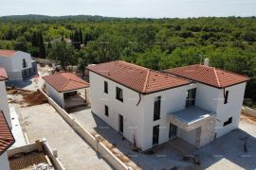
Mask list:
[[[187,149],[185,144],[170,141],[155,148],[153,152],[133,151],[132,144],[123,140],[117,131],[105,124],[89,108],[77,108],[70,115],[92,134],[100,134],[105,144],[114,144],[114,152],[124,155],[123,161],[132,167],[143,169],[255,169],[256,168],[256,118],[241,115],[238,129],[218,138],[200,149]],[[245,140],[247,138],[247,152]],[[189,147],[192,148],[192,147]],[[186,152],[187,150],[187,152]],[[184,155],[191,154],[198,161],[183,161]],[[128,159],[127,159],[128,158]]]

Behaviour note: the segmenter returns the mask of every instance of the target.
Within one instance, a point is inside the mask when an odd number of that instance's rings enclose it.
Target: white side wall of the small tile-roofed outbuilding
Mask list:
[[[62,108],[64,108],[64,93],[59,93],[46,82],[46,93]]]

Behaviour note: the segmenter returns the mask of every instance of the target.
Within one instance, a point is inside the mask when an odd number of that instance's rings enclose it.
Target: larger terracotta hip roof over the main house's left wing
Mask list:
[[[153,71],[121,60],[91,65],[87,69],[138,93],[154,93],[191,83],[190,80],[181,77]]]

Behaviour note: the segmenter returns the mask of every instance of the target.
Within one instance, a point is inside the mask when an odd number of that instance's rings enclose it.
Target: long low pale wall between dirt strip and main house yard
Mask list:
[[[82,137],[82,139],[90,144],[93,149],[101,153],[101,156],[105,158],[113,167],[119,170],[132,170],[132,167],[128,167],[122,161],[119,160],[104,144],[97,140],[88,130],[86,130],[80,123],[78,123],[74,118],[72,118],[65,110],[63,110],[55,101],[53,101],[46,93],[39,90],[48,99],[49,104],[59,112],[59,114],[64,118],[64,120],[74,128],[74,130]]]

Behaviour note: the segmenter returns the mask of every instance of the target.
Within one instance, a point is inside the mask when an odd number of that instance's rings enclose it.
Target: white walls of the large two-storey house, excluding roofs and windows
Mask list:
[[[168,142],[170,121],[167,114],[186,109],[186,93],[196,88],[194,106],[213,112],[214,115],[200,122],[200,127],[187,130],[177,127],[176,136],[200,147],[209,144],[214,137],[219,137],[238,127],[240,111],[246,83],[230,86],[228,103],[224,104],[224,89],[217,89],[205,84],[195,83],[157,93],[139,94],[104,76],[89,72],[91,109],[103,121],[119,131],[119,114],[123,116],[122,135],[131,143],[137,143],[141,150],[153,147],[153,127],[159,126],[158,144]],[[104,81],[108,83],[108,93],[104,93]],[[123,102],[116,99],[116,87],[122,89]],[[141,97],[139,104],[139,96]],[[161,96],[160,119],[154,121],[155,97]],[[108,116],[105,115],[108,107]],[[232,117],[232,122],[224,122]]]

